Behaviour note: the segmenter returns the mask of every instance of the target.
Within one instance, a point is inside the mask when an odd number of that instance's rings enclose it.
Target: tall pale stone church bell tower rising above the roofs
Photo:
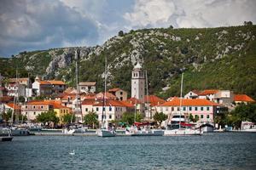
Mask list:
[[[143,67],[137,63],[131,72],[131,98],[140,99],[144,102],[145,76]]]

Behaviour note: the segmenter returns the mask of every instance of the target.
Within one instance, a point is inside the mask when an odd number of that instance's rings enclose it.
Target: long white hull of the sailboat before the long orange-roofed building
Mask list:
[[[201,135],[203,132],[194,129],[173,129],[165,130],[164,136],[186,136],[186,135]]]

